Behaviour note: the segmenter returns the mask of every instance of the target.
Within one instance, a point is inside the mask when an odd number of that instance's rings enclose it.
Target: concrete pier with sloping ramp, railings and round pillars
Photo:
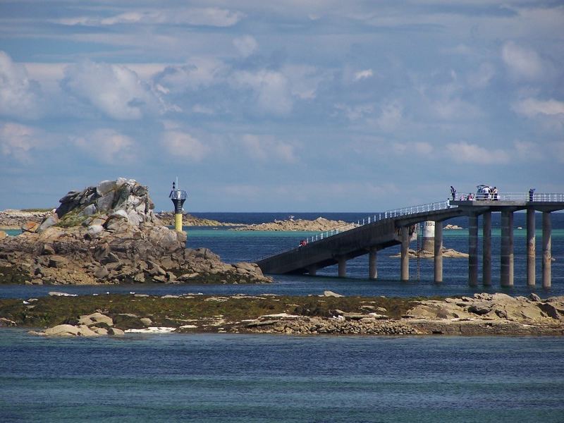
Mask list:
[[[434,281],[443,281],[443,221],[468,217],[468,283],[478,284],[478,219],[482,216],[482,283],[491,285],[491,214],[501,212],[501,286],[513,286],[513,213],[527,211],[527,285],[536,281],[535,212],[542,213],[542,285],[551,286],[551,212],[564,209],[564,194],[505,194],[477,200],[459,195],[450,201],[390,210],[367,217],[344,231],[327,231],[308,238],[307,245],[257,260],[266,274],[316,274],[338,264],[338,276],[346,276],[347,260],[368,255],[368,276],[376,279],[376,254],[401,245],[400,280],[409,280],[408,249],[417,223],[434,221]]]

